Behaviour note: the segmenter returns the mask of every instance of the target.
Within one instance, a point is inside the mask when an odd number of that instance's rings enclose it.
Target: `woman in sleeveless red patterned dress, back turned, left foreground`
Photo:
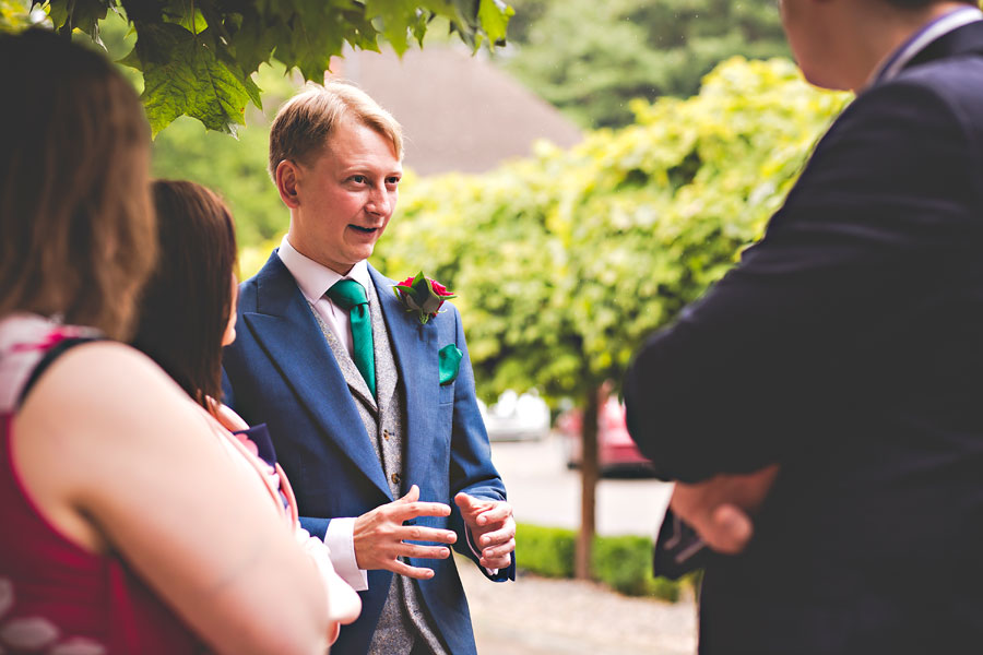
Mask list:
[[[0,61],[0,650],[323,652],[323,584],[267,489],[111,341],[156,251],[135,93],[40,31]]]

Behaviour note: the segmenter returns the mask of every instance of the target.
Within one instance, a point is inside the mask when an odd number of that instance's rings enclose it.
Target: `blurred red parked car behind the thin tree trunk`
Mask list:
[[[582,460],[580,426],[583,413],[569,409],[556,419],[556,429],[564,436],[567,466],[577,468]],[[638,450],[625,421],[625,405],[617,397],[608,397],[597,409],[597,465],[601,475],[623,473],[650,474],[652,461]]]

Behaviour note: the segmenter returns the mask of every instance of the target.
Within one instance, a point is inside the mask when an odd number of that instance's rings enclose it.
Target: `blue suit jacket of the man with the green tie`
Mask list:
[[[404,492],[417,485],[421,500],[450,504],[449,517],[424,516],[417,524],[453,529],[454,548],[476,562],[453,497],[465,491],[505,500],[506,491],[492,464],[460,314],[446,303],[447,311],[421,325],[392,293],[395,283],[371,266],[369,273],[404,394]],[[269,425],[304,526],[323,538],[331,519],[358,516],[394,500],[331,348],[275,251],[239,287],[236,333],[223,360],[226,403],[249,424]],[[457,380],[441,385],[438,352],[448,344],[455,344],[464,357]],[[410,563],[434,569],[434,577],[418,584],[450,652],[474,653],[471,616],[453,558],[411,558]],[[514,580],[514,558],[493,577]],[[362,616],[342,628],[339,653],[368,650],[391,580],[389,571],[369,571],[369,588],[360,593]]]

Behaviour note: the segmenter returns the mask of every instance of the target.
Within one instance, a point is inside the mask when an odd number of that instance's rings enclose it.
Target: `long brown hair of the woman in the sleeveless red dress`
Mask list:
[[[43,29],[0,35],[0,317],[125,338],[154,263],[150,129],[105,57]]]

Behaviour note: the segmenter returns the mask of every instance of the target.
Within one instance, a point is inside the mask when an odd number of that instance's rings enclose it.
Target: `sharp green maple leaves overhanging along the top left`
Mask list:
[[[7,8],[10,0],[3,0]],[[388,41],[400,53],[410,39],[423,45],[434,19],[442,19],[473,49],[504,43],[512,10],[500,0],[34,0],[55,29],[100,43],[110,10],[137,33],[122,63],[140,71],[143,100],[154,133],[179,116],[208,129],[236,133],[249,103],[261,108],[253,80],[260,64],[281,62],[306,80],[323,81],[331,58],[347,44],[379,50]],[[11,17],[10,21],[13,19]],[[9,21],[0,11],[0,25]]]

